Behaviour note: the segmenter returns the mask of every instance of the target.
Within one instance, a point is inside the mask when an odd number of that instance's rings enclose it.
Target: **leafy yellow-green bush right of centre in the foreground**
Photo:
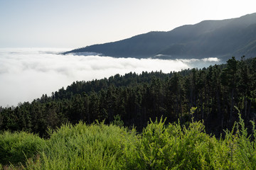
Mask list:
[[[210,149],[217,140],[203,131],[202,123],[186,129],[179,124],[151,122],[134,147],[129,169],[205,169],[210,167]],[[130,154],[129,154],[130,155]],[[131,160],[132,159],[132,160]]]

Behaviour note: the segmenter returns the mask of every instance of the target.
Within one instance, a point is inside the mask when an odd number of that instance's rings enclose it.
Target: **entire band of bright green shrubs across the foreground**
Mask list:
[[[252,125],[248,136],[240,118],[220,139],[207,135],[203,123],[193,118],[187,127],[156,120],[141,134],[118,124],[81,122],[51,130],[48,140],[5,132],[0,135],[0,169],[256,169]]]

